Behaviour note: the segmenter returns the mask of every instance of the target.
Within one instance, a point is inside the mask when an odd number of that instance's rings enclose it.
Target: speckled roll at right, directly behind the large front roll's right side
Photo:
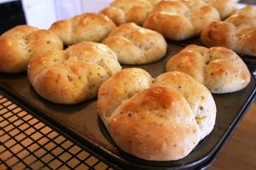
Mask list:
[[[244,61],[224,47],[188,45],[166,63],[166,71],[182,71],[198,79],[211,93],[244,89],[251,74]]]

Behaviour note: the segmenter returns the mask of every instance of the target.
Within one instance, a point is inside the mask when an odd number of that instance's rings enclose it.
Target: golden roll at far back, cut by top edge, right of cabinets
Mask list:
[[[115,0],[99,13],[107,15],[117,26],[126,22],[141,26],[153,7],[147,0]]]

